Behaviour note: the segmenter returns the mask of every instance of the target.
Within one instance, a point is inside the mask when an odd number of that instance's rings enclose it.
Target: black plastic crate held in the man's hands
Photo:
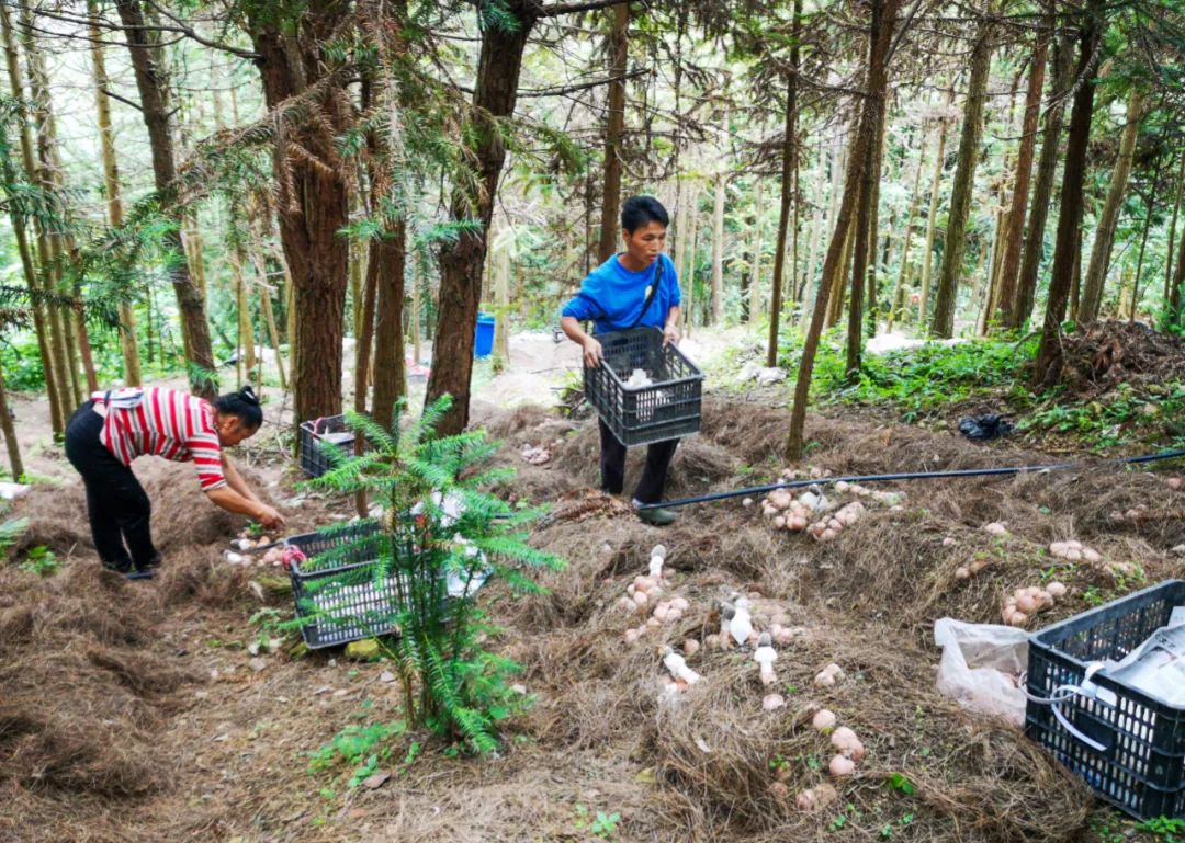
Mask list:
[[[648,445],[699,431],[704,375],[662,332],[633,328],[596,337],[604,361],[584,367],[584,397],[623,445]],[[651,386],[629,387],[635,369]]]

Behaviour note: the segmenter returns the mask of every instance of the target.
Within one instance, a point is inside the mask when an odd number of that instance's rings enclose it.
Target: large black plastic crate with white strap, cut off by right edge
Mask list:
[[[1185,581],[1167,580],[1033,635],[1029,694],[1048,699],[1081,686],[1090,663],[1123,658],[1180,605]],[[1094,697],[1074,694],[1052,706],[1030,701],[1025,733],[1133,817],[1185,817],[1185,709],[1104,673],[1090,682],[1100,689]]]

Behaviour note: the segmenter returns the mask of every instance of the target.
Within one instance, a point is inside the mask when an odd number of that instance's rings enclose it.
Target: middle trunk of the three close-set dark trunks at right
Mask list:
[[[1004,327],[1019,330],[1029,321],[1037,300],[1037,270],[1045,252],[1045,221],[1053,198],[1053,181],[1057,178],[1057,155],[1065,116],[1065,99],[1074,83],[1074,44],[1062,37],[1053,44],[1050,56],[1053,84],[1050,88],[1050,104],[1045,110],[1042,130],[1040,159],[1037,161],[1037,179],[1030,202],[1029,230],[1025,232],[1025,250],[1017,278],[1017,304]]]

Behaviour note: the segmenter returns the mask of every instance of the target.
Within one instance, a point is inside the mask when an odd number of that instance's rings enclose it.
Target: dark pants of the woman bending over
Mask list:
[[[87,485],[87,513],[100,560],[124,573],[133,566],[143,571],[159,561],[148,526],[152,504],[132,469],[100,440],[102,430],[103,417],[94,401],[78,407],[66,426],[66,458]]]

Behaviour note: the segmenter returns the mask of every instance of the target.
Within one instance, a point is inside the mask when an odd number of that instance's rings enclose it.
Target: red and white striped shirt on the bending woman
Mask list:
[[[100,439],[124,465],[148,453],[182,463],[192,459],[203,491],[226,485],[214,410],[207,401],[154,387],[96,392],[91,399],[107,406]]]

